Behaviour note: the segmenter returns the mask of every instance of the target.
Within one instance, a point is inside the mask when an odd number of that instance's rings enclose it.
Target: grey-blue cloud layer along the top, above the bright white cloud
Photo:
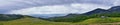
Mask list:
[[[0,0],[0,13],[7,13],[13,10],[21,10],[36,6],[41,7],[72,3],[91,3],[107,6],[119,5],[119,1],[117,0]]]

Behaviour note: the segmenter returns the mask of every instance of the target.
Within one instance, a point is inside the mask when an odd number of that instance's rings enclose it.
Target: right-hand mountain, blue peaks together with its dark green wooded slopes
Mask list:
[[[98,8],[84,14],[68,14],[66,16],[48,18],[47,20],[55,22],[80,22],[90,18],[101,18],[101,16],[105,16],[105,18],[120,17],[119,12],[120,6],[114,6],[108,10]]]

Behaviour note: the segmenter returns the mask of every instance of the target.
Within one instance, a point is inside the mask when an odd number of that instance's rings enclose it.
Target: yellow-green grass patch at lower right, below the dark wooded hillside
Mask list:
[[[120,17],[109,17],[109,18],[91,18],[85,21],[79,22],[81,24],[93,24],[93,23],[114,23],[120,22]]]

